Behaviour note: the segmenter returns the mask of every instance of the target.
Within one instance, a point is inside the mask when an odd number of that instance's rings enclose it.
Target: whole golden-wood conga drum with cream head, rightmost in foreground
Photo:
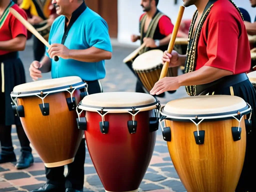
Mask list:
[[[188,192],[234,192],[246,152],[251,106],[231,95],[200,95],[161,108],[170,157]],[[247,119],[248,120],[248,119]],[[246,121],[247,121],[246,120]]]

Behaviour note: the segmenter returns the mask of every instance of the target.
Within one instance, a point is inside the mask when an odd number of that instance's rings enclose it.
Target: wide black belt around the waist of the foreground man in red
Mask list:
[[[205,95],[207,93],[216,91],[218,89],[233,86],[234,84],[240,83],[247,79],[248,77],[246,73],[225,76],[211,83],[197,85],[196,92],[197,92],[197,95]]]

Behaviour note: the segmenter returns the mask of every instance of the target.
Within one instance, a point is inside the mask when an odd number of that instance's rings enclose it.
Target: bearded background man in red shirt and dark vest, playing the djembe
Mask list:
[[[145,13],[140,16],[140,35],[131,36],[132,42],[140,40],[141,44],[144,42],[146,43],[144,49],[142,49],[139,54],[143,54],[144,52],[152,49],[165,51],[168,48],[174,25],[169,17],[157,9],[158,2],[159,0],[141,1],[141,6]],[[132,68],[130,69],[132,70]],[[137,80],[136,92],[144,93],[142,86],[142,83]],[[173,92],[175,91],[170,91],[170,93]],[[164,93],[157,96],[164,97]]]

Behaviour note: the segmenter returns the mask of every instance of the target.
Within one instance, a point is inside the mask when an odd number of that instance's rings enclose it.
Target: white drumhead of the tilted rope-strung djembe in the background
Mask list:
[[[162,64],[162,57],[164,52],[159,49],[147,51],[139,55],[132,63],[133,70],[150,70],[157,68]]]

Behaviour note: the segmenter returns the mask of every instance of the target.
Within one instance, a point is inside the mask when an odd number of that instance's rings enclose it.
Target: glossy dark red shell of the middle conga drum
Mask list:
[[[156,131],[149,131],[153,110],[135,115],[136,133],[130,134],[127,121],[130,113],[107,113],[108,133],[100,131],[102,121],[97,112],[86,111],[86,143],[92,162],[106,191],[133,191],[139,188],[151,161]]]

